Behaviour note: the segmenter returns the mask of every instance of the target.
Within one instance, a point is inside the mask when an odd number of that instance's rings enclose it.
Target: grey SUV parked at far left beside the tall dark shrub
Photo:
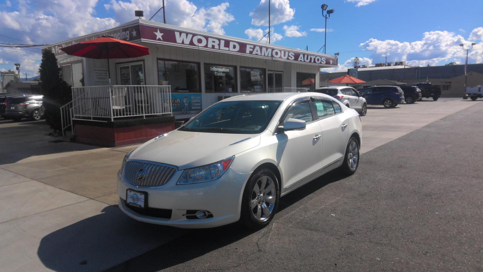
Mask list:
[[[40,107],[42,106],[43,95],[23,95],[10,99],[7,102],[5,115],[14,121],[22,118],[30,118],[33,121],[42,119]]]

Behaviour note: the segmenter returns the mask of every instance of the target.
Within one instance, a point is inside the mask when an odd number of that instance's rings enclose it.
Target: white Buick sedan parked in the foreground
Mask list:
[[[129,152],[119,207],[148,223],[183,228],[270,223],[280,197],[359,162],[354,109],[315,92],[231,97]]]

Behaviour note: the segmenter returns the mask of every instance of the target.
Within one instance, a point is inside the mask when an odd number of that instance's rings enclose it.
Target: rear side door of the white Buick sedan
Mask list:
[[[322,129],[322,168],[328,168],[337,165],[345,155],[348,122],[337,102],[315,98],[313,103],[317,108],[317,123]]]

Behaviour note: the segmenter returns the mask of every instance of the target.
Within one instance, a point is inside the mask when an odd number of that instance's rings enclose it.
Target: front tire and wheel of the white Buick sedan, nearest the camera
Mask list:
[[[267,226],[277,212],[279,199],[277,176],[269,168],[257,169],[243,190],[240,223],[252,229]]]

